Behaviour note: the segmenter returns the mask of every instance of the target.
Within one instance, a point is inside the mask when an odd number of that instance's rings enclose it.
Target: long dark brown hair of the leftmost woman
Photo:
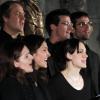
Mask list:
[[[21,39],[15,39],[0,47],[0,80],[9,75],[14,75],[18,81],[22,82],[24,71],[16,68],[14,61],[21,56],[24,46],[25,44]]]

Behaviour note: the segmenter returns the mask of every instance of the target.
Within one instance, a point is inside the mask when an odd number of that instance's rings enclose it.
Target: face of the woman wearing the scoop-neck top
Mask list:
[[[77,49],[75,52],[71,55],[71,62],[72,65],[77,67],[77,68],[86,68],[86,60],[87,60],[87,54],[86,54],[86,48],[85,45],[80,42],[79,43],[79,51],[77,52]]]

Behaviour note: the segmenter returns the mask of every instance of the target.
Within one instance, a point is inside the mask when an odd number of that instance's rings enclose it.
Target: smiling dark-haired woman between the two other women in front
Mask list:
[[[33,56],[33,68],[36,75],[35,82],[39,88],[37,93],[38,100],[50,100],[50,96],[47,90],[47,59],[50,56],[48,52],[48,47],[45,42],[44,37],[41,35],[27,35],[24,37],[23,41],[30,50],[31,55]],[[41,96],[42,95],[42,98]]]

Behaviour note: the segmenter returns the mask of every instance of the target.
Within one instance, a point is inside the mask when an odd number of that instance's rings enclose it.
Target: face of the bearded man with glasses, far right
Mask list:
[[[90,22],[89,18],[86,16],[80,17],[77,19],[76,25],[75,25],[75,36],[82,40],[89,39],[93,27],[92,22]]]

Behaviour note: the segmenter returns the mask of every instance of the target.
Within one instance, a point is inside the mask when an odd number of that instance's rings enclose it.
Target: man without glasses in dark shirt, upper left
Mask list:
[[[6,1],[0,6],[0,45],[23,34],[24,9],[18,1]]]

